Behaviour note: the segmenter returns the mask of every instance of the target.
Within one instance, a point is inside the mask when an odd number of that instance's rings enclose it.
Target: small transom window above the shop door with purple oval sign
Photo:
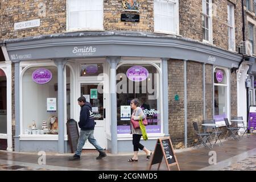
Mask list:
[[[100,73],[103,73],[102,63],[80,65],[80,76],[98,76]]]

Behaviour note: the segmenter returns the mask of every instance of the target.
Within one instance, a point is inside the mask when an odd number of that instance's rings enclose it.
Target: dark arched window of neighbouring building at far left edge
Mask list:
[[[7,134],[6,75],[0,69],[0,133]]]

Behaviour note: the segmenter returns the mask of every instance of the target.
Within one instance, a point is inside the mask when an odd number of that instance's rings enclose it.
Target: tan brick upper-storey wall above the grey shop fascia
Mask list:
[[[121,22],[122,0],[104,0],[104,30],[154,32],[154,0],[141,0],[140,21]],[[236,5],[236,43],[242,40],[241,2],[232,0]],[[216,0],[213,5],[213,44],[228,47],[227,1]],[[63,33],[66,31],[66,1],[61,0],[3,0],[1,2],[1,39],[23,38]],[[184,38],[203,40],[201,28],[201,0],[179,1],[179,29]],[[14,31],[14,23],[40,18],[40,27]],[[221,35],[221,36],[220,36]]]

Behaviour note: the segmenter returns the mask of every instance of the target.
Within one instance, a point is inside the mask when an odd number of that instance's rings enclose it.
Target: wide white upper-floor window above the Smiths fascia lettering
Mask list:
[[[103,0],[68,0],[67,30],[103,30]]]

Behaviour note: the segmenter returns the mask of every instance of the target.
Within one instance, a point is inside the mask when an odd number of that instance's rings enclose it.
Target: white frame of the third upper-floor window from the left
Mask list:
[[[202,0],[202,16],[203,18],[208,17],[208,38],[209,40],[205,40],[203,38],[203,42],[204,43],[213,43],[213,30],[212,30],[212,0],[209,0],[209,15],[204,13],[204,2],[205,5],[207,5],[207,0]],[[202,21],[202,28],[206,29],[205,27],[203,27],[203,21]]]

